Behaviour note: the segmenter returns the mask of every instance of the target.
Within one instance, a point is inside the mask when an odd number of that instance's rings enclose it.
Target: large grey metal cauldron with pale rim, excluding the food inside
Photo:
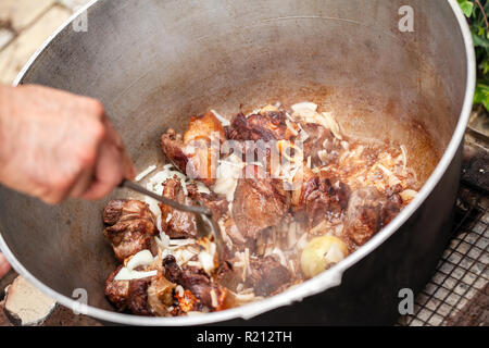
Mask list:
[[[399,29],[410,14],[402,5],[414,10],[414,32]],[[0,248],[16,271],[65,306],[86,289],[88,314],[113,323],[393,322],[399,290],[418,290],[436,265],[457,190],[475,67],[455,0],[100,0],[87,18],[87,32],[62,28],[18,83],[99,98],[139,170],[162,159],[160,134],[192,114],[311,100],[347,133],[406,145],[426,184],[316,278],[262,302],[174,319],[116,313],[105,300],[115,260],[101,234],[103,201],[53,208],[2,188]]]

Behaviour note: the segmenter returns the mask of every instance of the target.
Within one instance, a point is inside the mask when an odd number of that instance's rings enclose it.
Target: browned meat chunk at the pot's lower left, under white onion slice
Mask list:
[[[127,310],[136,315],[151,315],[147,294],[151,278],[114,281],[122,268],[123,265],[120,265],[106,278],[105,296],[120,311]]]

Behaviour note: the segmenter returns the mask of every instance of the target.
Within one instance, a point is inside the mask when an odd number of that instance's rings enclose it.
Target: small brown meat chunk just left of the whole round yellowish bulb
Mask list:
[[[259,296],[268,296],[291,281],[289,270],[273,256],[251,258],[250,265],[251,285]]]

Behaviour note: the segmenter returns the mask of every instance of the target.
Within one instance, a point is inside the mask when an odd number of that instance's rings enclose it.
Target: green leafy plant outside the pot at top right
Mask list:
[[[489,2],[487,0],[457,0],[471,26],[477,59],[475,104],[489,111]]]

